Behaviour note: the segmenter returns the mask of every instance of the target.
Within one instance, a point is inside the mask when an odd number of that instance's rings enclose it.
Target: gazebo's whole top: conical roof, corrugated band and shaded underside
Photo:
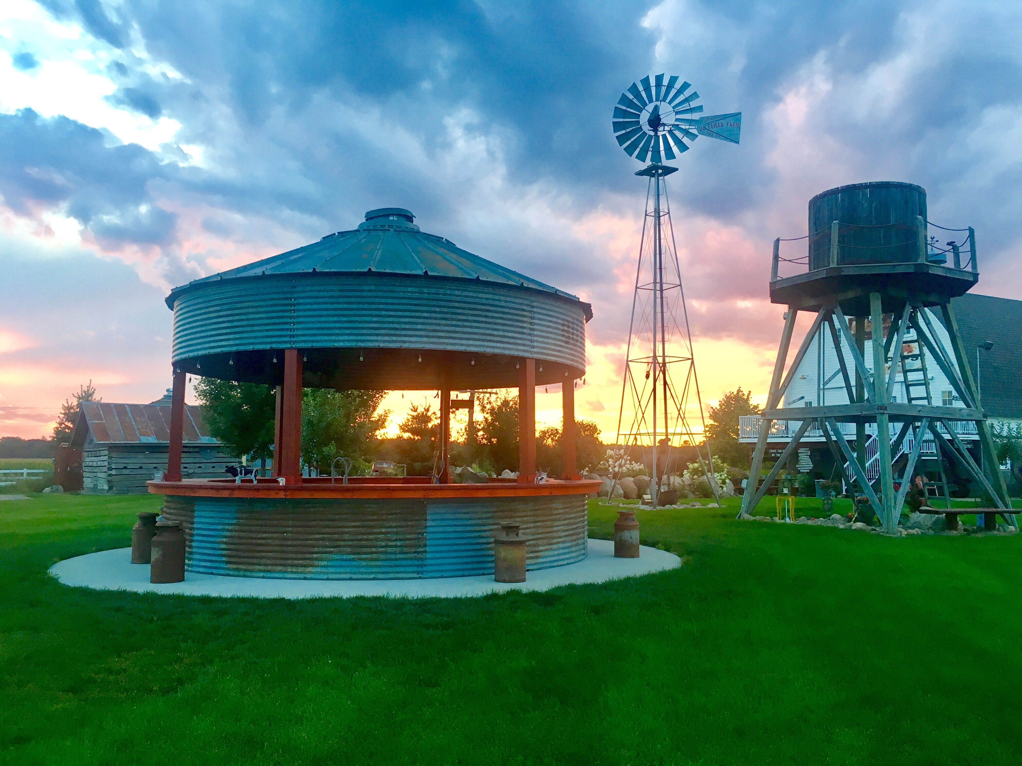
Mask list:
[[[176,287],[175,367],[279,384],[275,352],[300,348],[308,387],[510,387],[516,357],[538,361],[540,384],[582,377],[589,303],[414,221],[369,210],[357,229]]]

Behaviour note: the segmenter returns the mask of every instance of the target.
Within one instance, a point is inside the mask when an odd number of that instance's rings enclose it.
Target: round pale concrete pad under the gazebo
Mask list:
[[[221,577],[185,573],[184,582],[154,585],[149,567],[131,563],[131,548],[101,550],[54,564],[50,574],[64,585],[100,590],[179,593],[182,595],[241,595],[256,599],[314,599],[320,596],[388,595],[407,599],[454,599],[502,590],[549,590],[559,585],[606,582],[621,577],[662,572],[682,566],[666,550],[642,547],[638,559],[615,559],[611,540],[589,540],[589,555],[577,564],[528,573],[525,582],[494,582],[480,577],[440,577],[431,580],[272,580],[264,577]]]

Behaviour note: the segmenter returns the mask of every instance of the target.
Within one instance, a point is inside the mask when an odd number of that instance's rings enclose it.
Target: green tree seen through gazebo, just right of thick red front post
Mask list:
[[[301,398],[301,458],[329,474],[336,458],[349,458],[359,472],[372,460],[377,434],[390,414],[377,412],[385,391],[307,388]]]

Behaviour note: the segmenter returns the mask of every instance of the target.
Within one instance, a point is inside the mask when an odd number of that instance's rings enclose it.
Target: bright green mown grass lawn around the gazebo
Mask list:
[[[1022,761],[1019,536],[640,512],[643,541],[680,570],[465,601],[190,599],[47,576],[129,544],[134,514],[157,506],[0,501],[0,762]],[[592,534],[614,516],[594,501]]]

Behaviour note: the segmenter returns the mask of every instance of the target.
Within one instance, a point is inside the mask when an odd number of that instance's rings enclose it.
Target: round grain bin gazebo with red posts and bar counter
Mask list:
[[[409,210],[175,288],[167,474],[149,482],[187,539],[187,568],[311,579],[493,572],[498,525],[521,525],[527,568],[586,557],[574,381],[586,371],[588,303],[420,231]],[[274,476],[182,480],[188,374],[277,387]],[[563,384],[565,476],[536,482],[536,386]],[[304,387],[440,391],[433,477],[300,473]],[[452,389],[519,389],[519,474],[453,484]]]

